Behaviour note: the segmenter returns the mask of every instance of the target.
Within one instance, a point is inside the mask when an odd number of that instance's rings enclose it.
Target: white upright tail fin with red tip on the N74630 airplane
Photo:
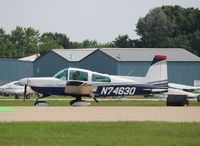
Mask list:
[[[168,84],[167,77],[167,56],[155,55],[151,66],[146,74],[146,81],[150,84],[163,85]]]

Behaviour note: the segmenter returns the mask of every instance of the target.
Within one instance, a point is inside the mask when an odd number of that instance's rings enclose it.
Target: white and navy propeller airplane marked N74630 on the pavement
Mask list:
[[[25,85],[24,97],[27,86],[42,94],[34,105],[48,105],[39,99],[50,95],[69,95],[75,97],[70,105],[86,106],[89,103],[82,100],[83,96],[91,97],[98,102],[96,97],[167,92],[166,59],[166,56],[155,55],[145,77],[108,75],[80,68],[66,68],[53,77],[24,78],[20,83]]]

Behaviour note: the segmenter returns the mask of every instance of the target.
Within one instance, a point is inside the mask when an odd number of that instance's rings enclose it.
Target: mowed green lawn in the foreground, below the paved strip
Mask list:
[[[8,122],[1,146],[199,146],[200,123]]]

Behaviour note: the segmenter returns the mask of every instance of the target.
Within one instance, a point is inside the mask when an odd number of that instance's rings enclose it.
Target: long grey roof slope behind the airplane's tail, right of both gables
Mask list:
[[[200,58],[181,48],[105,48],[101,49],[118,61],[151,61],[154,55],[167,56],[168,61],[200,61]]]

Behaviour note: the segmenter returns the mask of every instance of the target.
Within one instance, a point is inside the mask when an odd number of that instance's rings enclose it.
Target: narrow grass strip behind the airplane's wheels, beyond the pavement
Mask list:
[[[61,100],[50,100],[50,99],[61,99]],[[0,99],[14,99],[14,97],[0,97]],[[69,100],[65,100],[69,99]],[[86,98],[88,100],[89,98]],[[158,100],[158,101],[151,101],[145,100],[145,98],[142,97],[136,97],[136,99],[142,99],[142,100],[120,100],[120,99],[113,99],[113,100],[99,100],[99,103],[96,103],[93,100],[90,100],[91,106],[165,106],[166,102],[164,100]],[[47,97],[42,100],[47,101],[52,106],[69,106],[70,100],[72,98],[69,97]],[[22,98],[18,100],[0,100],[0,106],[33,106],[35,102],[35,98],[27,99],[25,102]],[[190,101],[190,106],[200,106],[200,102]]]

